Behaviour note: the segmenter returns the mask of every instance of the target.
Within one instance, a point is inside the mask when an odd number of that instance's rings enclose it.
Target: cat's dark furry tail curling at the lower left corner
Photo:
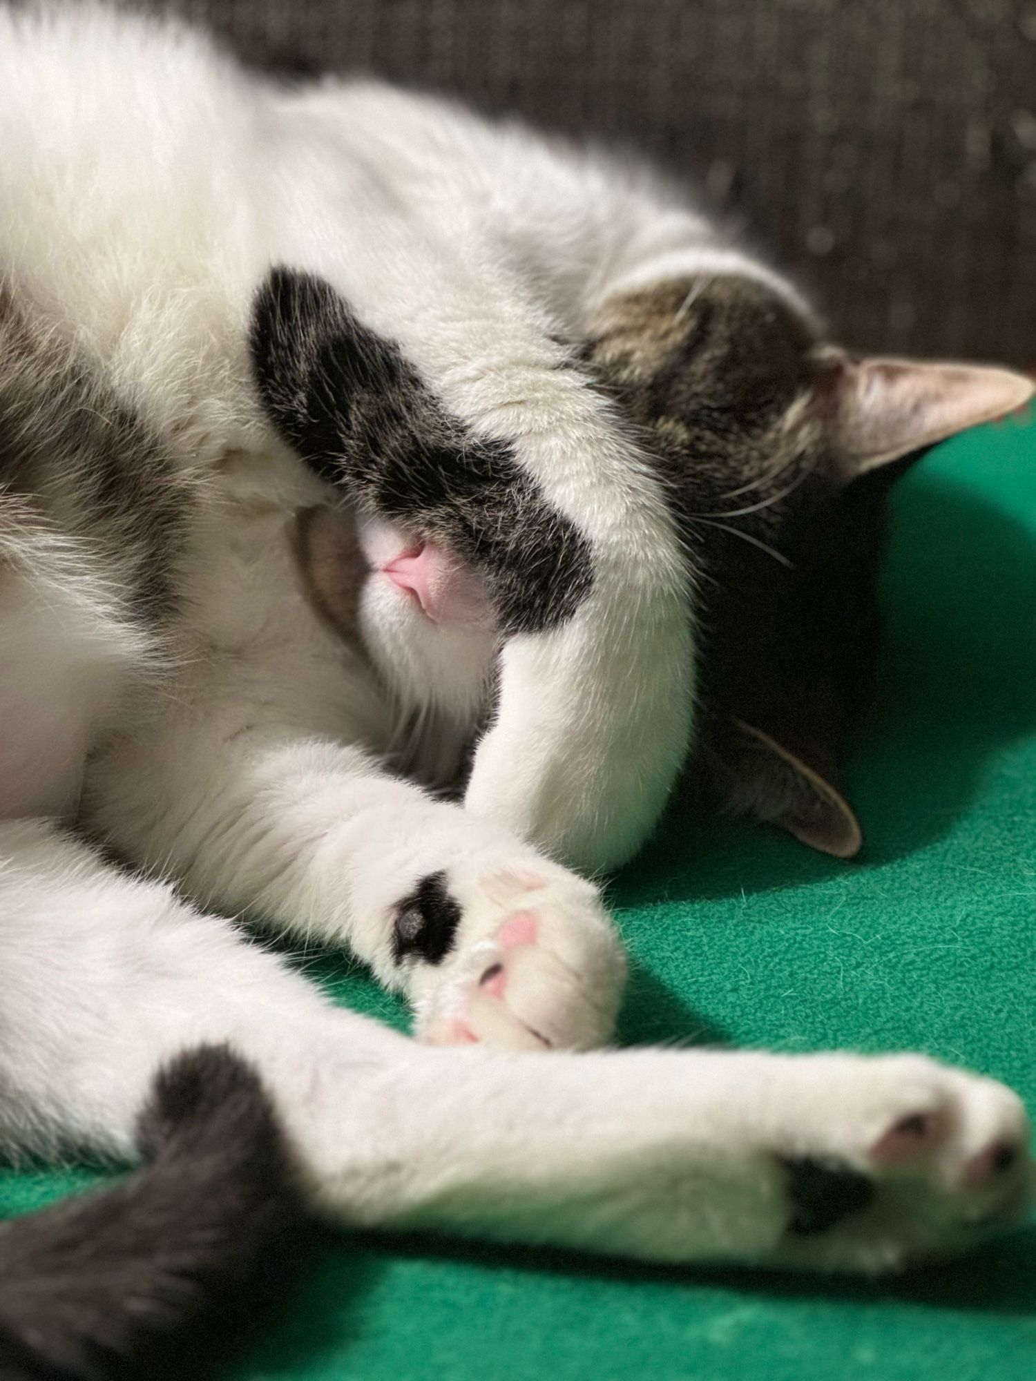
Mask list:
[[[294,1254],[280,1130],[228,1050],[159,1074],[140,1143],[149,1164],[133,1178],[0,1232],[3,1381],[151,1381],[214,1324],[222,1342],[264,1268]]]

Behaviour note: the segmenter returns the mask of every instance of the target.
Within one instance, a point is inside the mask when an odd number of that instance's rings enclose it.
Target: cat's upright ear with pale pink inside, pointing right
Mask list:
[[[1003,417],[1036,392],[1024,374],[982,365],[856,359],[837,349],[818,352],[816,365],[834,464],[845,479]]]

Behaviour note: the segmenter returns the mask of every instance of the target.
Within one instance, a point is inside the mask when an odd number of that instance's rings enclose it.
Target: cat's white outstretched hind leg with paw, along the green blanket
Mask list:
[[[430,1050],[330,1007],[169,888],[0,826],[0,1138],[134,1157],[157,1068],[246,1056],[311,1201],[660,1261],[883,1271],[1021,1215],[1028,1127],[920,1056]]]

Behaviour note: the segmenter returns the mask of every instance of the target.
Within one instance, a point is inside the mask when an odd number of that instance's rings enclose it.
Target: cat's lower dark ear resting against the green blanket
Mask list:
[[[863,833],[845,797],[762,729],[733,717],[713,721],[699,771],[700,784],[721,808],[779,824],[833,858],[859,852]]]

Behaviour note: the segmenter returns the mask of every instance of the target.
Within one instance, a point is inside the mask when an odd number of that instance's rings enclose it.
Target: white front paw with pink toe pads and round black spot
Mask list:
[[[399,905],[414,1030],[437,1045],[591,1050],[615,1025],[626,963],[597,889],[539,859],[474,859]]]

